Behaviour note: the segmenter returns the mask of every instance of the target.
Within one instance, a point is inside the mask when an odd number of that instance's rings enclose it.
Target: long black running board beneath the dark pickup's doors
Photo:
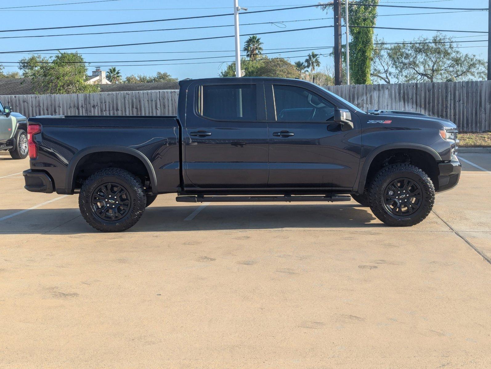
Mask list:
[[[351,196],[178,196],[178,202],[350,201]]]

